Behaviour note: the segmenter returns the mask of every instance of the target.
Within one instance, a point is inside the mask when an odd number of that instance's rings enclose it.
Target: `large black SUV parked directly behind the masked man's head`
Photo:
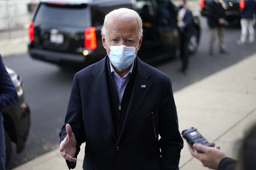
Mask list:
[[[120,7],[137,11],[143,19],[143,44],[138,56],[145,62],[175,57],[179,51],[176,6],[170,0],[42,0],[29,27],[29,55],[54,64],[82,65],[106,55],[101,28],[104,16]],[[197,50],[199,18],[188,46]]]

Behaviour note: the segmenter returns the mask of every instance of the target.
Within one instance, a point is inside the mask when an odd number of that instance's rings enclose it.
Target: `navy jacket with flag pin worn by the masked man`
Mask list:
[[[65,124],[72,127],[77,154],[79,146],[86,142],[83,168],[178,170],[183,139],[170,78],[136,58],[131,99],[117,138],[106,77],[108,62],[106,56],[76,73],[73,79]],[[64,125],[61,141],[65,137]],[[67,164],[69,169],[75,167]]]

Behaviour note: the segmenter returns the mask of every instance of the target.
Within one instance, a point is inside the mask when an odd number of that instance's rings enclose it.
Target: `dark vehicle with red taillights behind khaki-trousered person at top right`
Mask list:
[[[208,16],[209,4],[212,0],[200,0],[199,6],[201,7],[201,15]],[[226,20],[228,25],[240,24],[242,1],[240,0],[219,0],[225,10]]]

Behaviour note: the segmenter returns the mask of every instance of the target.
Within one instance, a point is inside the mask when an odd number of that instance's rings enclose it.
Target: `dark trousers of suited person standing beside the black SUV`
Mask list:
[[[180,44],[180,60],[182,62],[182,67],[181,69],[183,71],[187,70],[187,67],[188,67],[188,57],[189,57],[189,54],[188,54],[188,44],[189,44],[189,41],[190,39],[185,36],[184,33],[181,33],[181,44]]]

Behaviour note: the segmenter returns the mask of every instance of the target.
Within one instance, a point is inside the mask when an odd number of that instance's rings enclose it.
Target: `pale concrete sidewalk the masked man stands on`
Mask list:
[[[196,127],[235,158],[235,144],[256,121],[256,54],[174,93],[179,129]],[[171,132],[170,132],[171,133]],[[180,170],[208,170],[192,158],[184,142]],[[82,169],[82,145],[77,170]],[[59,149],[48,152],[14,170],[67,170]]]

